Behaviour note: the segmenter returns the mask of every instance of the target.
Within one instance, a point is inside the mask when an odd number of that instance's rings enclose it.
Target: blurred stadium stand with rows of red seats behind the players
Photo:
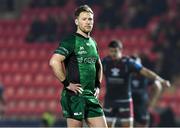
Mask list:
[[[120,39],[125,55],[169,79],[152,114],[151,126],[180,126],[179,0],[0,0],[0,126],[65,126],[61,84],[48,61],[75,31],[77,6],[95,13],[92,37],[101,58]],[[103,82],[104,83],[104,82]],[[100,100],[105,95],[102,85]]]

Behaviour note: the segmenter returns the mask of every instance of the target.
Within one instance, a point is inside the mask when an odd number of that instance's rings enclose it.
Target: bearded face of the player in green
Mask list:
[[[81,12],[75,22],[80,31],[89,33],[93,28],[93,14],[90,12]]]

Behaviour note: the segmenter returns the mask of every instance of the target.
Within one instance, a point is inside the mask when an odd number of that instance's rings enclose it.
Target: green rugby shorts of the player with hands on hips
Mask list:
[[[72,95],[69,91],[63,90],[61,106],[65,118],[72,118],[81,121],[83,119],[104,115],[99,100],[93,95],[93,93]]]

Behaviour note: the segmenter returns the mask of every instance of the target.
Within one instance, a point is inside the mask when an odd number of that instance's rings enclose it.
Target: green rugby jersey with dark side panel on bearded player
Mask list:
[[[96,64],[99,59],[96,42],[76,33],[64,39],[55,50],[64,55],[66,77],[72,83],[80,83],[84,90],[94,91],[97,79]]]

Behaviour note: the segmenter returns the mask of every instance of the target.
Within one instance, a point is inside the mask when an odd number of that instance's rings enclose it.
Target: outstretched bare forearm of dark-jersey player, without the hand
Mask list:
[[[146,78],[149,78],[151,80],[158,80],[160,82],[163,82],[164,79],[161,78],[159,75],[157,75],[155,72],[152,72],[151,70],[147,69],[147,68],[143,68],[140,72],[143,76],[145,76]]]

